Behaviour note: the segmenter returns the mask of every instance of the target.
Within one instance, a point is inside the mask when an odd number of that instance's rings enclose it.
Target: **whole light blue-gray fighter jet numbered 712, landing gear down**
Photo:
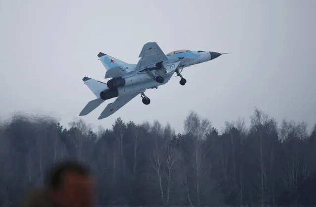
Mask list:
[[[137,64],[129,64],[102,52],[98,58],[105,67],[105,79],[111,78],[107,83],[88,77],[82,80],[89,87],[96,99],[90,101],[80,112],[80,116],[89,114],[106,100],[116,98],[107,104],[98,119],[106,118],[140,94],[142,103],[150,104],[150,99],[144,94],[147,89],[157,89],[160,85],[168,83],[173,74],[181,78],[183,86],[186,80],[181,75],[183,68],[206,62],[219,57],[219,52],[192,52],[178,50],[165,54],[157,43],[146,43],[139,56]]]

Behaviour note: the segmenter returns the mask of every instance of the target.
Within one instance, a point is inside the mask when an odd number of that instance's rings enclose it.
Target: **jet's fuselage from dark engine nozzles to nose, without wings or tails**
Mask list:
[[[220,56],[217,52],[181,52],[168,55],[168,60],[148,65],[143,70],[135,68],[132,72],[127,73],[122,77],[112,78],[107,82],[108,89],[102,91],[101,99],[108,100],[118,96],[135,93],[144,89],[158,88],[160,85],[168,83],[175,72],[179,72],[179,68],[189,67],[195,64],[209,61]],[[213,58],[212,58],[213,57]],[[175,64],[177,63],[177,64]],[[180,75],[180,72],[178,74]],[[154,77],[162,77],[163,81],[158,82]],[[183,81],[183,78],[181,78]],[[184,79],[185,80],[185,79]],[[186,82],[186,81],[185,81]],[[184,83],[185,84],[185,83]],[[181,84],[181,85],[184,85]]]

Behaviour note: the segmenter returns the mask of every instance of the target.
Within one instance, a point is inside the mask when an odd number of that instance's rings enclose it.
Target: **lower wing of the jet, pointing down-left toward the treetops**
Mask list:
[[[133,94],[128,94],[125,96],[120,96],[116,98],[116,100],[113,103],[107,104],[107,106],[104,108],[102,113],[97,119],[103,119],[106,118],[110,115],[112,115],[114,112],[119,110],[121,107],[123,107],[125,104],[130,102],[132,99],[134,99],[139,92],[133,93]]]

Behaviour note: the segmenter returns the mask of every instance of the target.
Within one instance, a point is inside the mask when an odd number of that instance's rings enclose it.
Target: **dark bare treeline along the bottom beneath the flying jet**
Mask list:
[[[184,133],[118,118],[93,132],[82,120],[14,115],[0,127],[0,206],[20,207],[54,162],[87,163],[100,206],[316,205],[316,127],[255,110],[219,132],[190,112]]]

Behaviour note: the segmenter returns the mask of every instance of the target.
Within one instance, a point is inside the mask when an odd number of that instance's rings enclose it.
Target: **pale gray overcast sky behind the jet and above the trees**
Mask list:
[[[104,80],[97,53],[138,61],[146,42],[174,50],[232,52],[185,68],[112,116],[107,103],[82,118],[158,119],[182,131],[189,110],[221,128],[254,107],[277,121],[316,122],[316,0],[0,0],[0,116],[50,114],[68,123],[94,95],[82,78]]]

